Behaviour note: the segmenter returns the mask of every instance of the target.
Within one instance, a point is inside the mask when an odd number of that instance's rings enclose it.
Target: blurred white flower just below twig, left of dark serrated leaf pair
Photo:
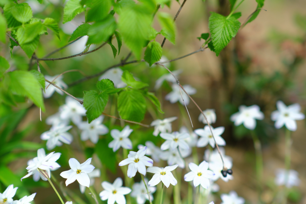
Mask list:
[[[74,124],[82,121],[82,117],[86,115],[83,105],[70,96],[66,97],[65,104],[60,106],[60,117],[62,120],[71,120]]]

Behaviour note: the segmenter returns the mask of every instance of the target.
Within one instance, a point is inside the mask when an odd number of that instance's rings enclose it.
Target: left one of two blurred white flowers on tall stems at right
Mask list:
[[[256,127],[256,120],[263,120],[264,115],[260,111],[259,106],[239,106],[239,112],[234,113],[230,120],[234,122],[236,126],[243,123],[244,127],[254,130]]]

